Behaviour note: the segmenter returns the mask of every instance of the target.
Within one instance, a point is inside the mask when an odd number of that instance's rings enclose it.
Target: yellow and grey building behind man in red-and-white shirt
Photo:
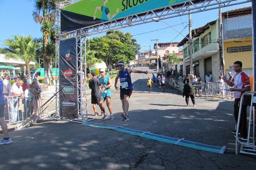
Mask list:
[[[233,63],[241,61],[243,71],[252,75],[252,15],[251,6],[222,13],[224,39],[224,75],[232,72]]]

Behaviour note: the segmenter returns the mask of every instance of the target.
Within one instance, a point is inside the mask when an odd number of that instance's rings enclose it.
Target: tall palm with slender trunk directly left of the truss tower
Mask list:
[[[47,57],[47,44],[50,36],[53,34],[53,24],[55,20],[55,3],[61,0],[34,0],[35,11],[33,11],[34,20],[41,24],[43,32],[43,60],[44,60],[44,83],[50,83],[50,58]],[[42,12],[42,15],[41,15]]]

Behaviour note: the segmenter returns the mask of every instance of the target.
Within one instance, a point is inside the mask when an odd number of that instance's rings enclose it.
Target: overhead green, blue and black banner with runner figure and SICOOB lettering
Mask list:
[[[61,10],[61,32],[65,33],[185,1],[187,0],[81,0]]]

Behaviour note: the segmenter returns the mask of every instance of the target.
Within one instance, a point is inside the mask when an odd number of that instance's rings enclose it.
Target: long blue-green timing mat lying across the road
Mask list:
[[[153,139],[156,141],[172,143],[175,145],[180,145],[180,146],[185,146],[185,147],[189,147],[189,148],[200,149],[203,151],[209,151],[209,152],[215,152],[215,153],[224,154],[224,151],[226,149],[225,146],[218,147],[218,146],[212,146],[212,145],[205,145],[202,143],[187,141],[187,140],[184,140],[184,138],[178,139],[178,138],[173,138],[173,137],[168,137],[168,136],[156,135],[156,134],[152,134],[149,132],[123,128],[120,126],[103,125],[103,124],[97,124],[97,123],[91,123],[91,122],[82,123],[82,125],[91,126],[91,127],[95,127],[95,128],[112,129],[112,130],[124,132],[126,134],[137,135],[137,136]]]

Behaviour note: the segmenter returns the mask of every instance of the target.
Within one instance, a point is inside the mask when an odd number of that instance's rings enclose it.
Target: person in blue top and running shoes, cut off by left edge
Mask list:
[[[9,137],[8,133],[8,127],[6,125],[6,122],[4,120],[4,108],[5,108],[5,98],[3,94],[4,84],[3,81],[0,79],[0,125],[2,128],[2,131],[4,133],[4,139],[0,141],[0,145],[12,143],[11,138]]]

